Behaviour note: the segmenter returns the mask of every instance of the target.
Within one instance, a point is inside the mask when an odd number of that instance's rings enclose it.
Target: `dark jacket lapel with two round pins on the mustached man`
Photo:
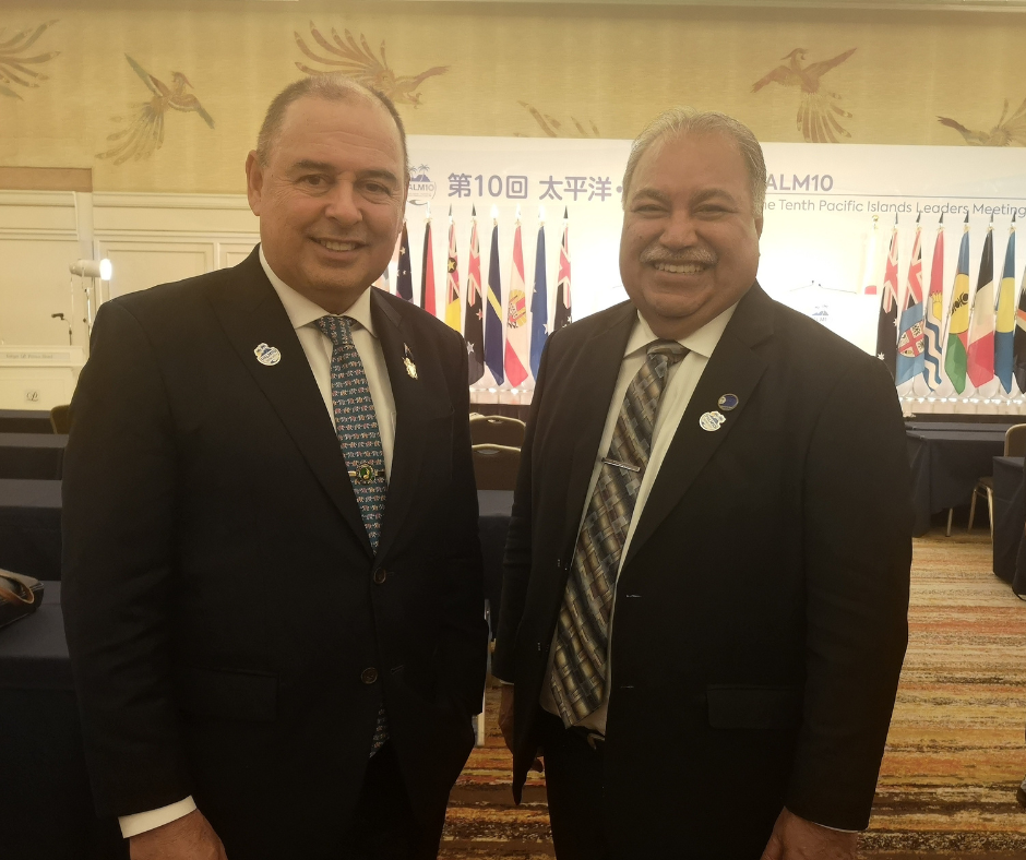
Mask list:
[[[684,497],[716,450],[730,437],[766,369],[765,359],[752,347],[773,334],[771,319],[771,299],[755,284],[738,304],[680,419],[634,529],[624,566],[630,564]],[[720,396],[728,393],[737,395],[738,406],[723,413],[727,420],[718,430],[703,430],[699,425],[701,416],[718,409]]]

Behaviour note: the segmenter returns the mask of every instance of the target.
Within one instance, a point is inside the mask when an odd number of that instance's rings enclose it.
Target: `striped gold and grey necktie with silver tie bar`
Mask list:
[[[620,553],[652,450],[652,430],[671,365],[688,350],[656,341],[631,380],[603,458],[587,514],[577,535],[573,564],[556,628],[552,693],[564,726],[580,722],[603,704],[609,614]]]

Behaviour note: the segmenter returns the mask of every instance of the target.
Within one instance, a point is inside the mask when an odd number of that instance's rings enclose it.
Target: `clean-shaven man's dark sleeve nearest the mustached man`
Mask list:
[[[451,587],[444,598],[445,686],[469,714],[481,709],[487,664],[488,624],[485,621],[485,572],[477,534],[477,483],[470,454],[470,390],[467,385],[467,353],[462,337],[453,338],[450,391],[453,403],[452,485],[446,522],[451,548]]]

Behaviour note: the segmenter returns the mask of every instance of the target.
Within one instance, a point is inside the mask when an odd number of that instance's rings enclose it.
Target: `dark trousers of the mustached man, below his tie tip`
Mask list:
[[[558,860],[608,860],[603,828],[603,742],[594,748],[582,729],[564,729],[547,712],[538,717],[545,787]]]

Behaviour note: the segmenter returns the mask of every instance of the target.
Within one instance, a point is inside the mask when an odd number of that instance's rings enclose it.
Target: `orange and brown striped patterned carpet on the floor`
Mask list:
[[[991,572],[990,536],[915,541],[910,641],[861,856],[1026,858],[1026,602]],[[510,756],[489,690],[487,744],[452,793],[441,857],[551,858],[545,783],[513,805]]]

